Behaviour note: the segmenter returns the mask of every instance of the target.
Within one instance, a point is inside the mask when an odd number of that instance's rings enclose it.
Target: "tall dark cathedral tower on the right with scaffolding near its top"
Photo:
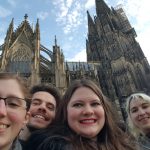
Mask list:
[[[87,61],[97,64],[103,92],[124,107],[131,93],[150,94],[150,66],[123,9],[110,9],[104,0],[95,4],[97,16],[87,12]]]

